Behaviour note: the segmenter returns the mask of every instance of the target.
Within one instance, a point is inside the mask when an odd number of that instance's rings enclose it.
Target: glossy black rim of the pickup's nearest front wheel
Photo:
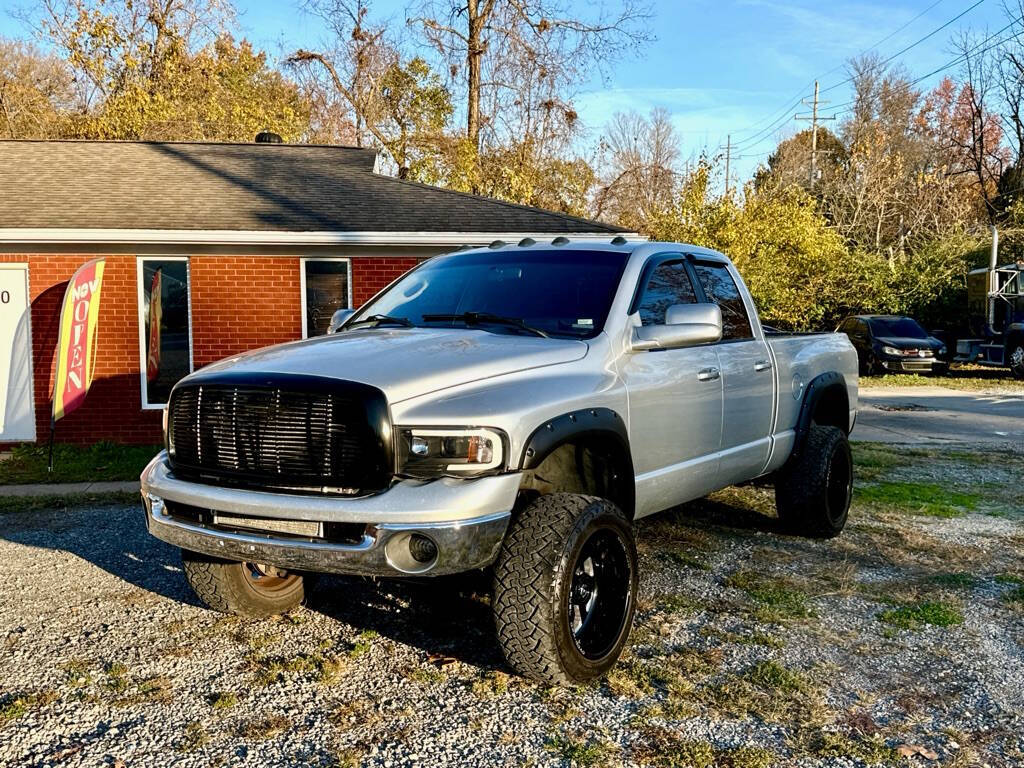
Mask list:
[[[580,549],[567,595],[569,634],[583,656],[606,656],[617,644],[632,599],[626,546],[614,530],[591,535]]]

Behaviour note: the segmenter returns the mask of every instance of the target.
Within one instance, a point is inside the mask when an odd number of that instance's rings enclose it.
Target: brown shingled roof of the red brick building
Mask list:
[[[614,233],[402,181],[351,146],[0,141],[0,229]]]

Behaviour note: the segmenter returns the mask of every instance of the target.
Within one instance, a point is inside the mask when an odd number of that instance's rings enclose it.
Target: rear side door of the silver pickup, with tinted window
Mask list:
[[[775,407],[772,358],[736,280],[726,264],[694,259],[693,270],[705,299],[722,308],[722,341],[718,349],[722,371],[721,485],[756,477],[764,470],[771,447]]]

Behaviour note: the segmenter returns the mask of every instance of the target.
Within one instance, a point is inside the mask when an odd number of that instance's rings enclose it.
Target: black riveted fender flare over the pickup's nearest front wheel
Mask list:
[[[629,507],[624,511],[632,517],[636,494],[633,453],[630,451],[626,422],[611,409],[585,408],[548,419],[526,439],[519,459],[519,470],[528,471],[541,466],[545,459],[565,443],[591,438],[608,440],[622,451],[627,465],[624,469],[629,471],[629,477],[623,478],[623,501]]]

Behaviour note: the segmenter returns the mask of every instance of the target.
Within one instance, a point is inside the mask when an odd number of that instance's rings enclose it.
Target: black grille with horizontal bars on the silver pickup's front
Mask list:
[[[374,387],[307,376],[212,377],[179,385],[171,468],[186,479],[360,495],[391,478],[391,427]]]

